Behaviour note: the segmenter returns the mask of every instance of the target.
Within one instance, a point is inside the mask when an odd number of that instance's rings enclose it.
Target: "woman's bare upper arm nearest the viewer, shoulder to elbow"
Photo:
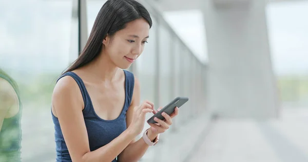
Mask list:
[[[90,152],[83,107],[82,94],[74,78],[59,79],[52,94],[52,113],[59,119],[72,161],[81,161],[83,155]]]

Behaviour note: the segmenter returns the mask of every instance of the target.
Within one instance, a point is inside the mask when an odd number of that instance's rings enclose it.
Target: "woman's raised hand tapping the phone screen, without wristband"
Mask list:
[[[145,114],[153,112],[156,114],[156,110],[154,109],[154,104],[146,100],[140,106],[136,106],[133,109],[133,115],[131,124],[128,129],[130,129],[134,135],[138,135],[142,132],[145,123]]]

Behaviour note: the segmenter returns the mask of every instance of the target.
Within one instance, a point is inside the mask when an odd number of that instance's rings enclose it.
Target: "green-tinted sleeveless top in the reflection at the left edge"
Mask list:
[[[9,82],[17,94],[19,111],[16,115],[4,118],[0,131],[0,161],[21,161],[21,140],[22,140],[22,104],[17,87],[13,86],[13,80],[6,75],[0,74],[0,78],[4,78]]]

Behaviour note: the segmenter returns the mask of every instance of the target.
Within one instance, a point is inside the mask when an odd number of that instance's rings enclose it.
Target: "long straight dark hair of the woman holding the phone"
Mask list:
[[[143,5],[134,0],[108,0],[98,13],[89,39],[79,57],[63,73],[87,65],[102,50],[103,39],[126,27],[128,22],[144,18],[152,26],[150,14]]]

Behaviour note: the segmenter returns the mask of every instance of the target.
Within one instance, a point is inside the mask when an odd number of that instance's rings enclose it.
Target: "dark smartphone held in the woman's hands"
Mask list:
[[[178,107],[180,108],[182,105],[184,105],[188,101],[188,97],[177,97],[174,100],[172,100],[167,106],[162,108],[159,112],[154,114],[152,117],[150,117],[147,120],[147,123],[157,123],[154,118],[158,117],[161,120],[164,120],[165,117],[162,115],[162,112],[167,113],[168,115],[171,115],[174,111],[175,108]]]

